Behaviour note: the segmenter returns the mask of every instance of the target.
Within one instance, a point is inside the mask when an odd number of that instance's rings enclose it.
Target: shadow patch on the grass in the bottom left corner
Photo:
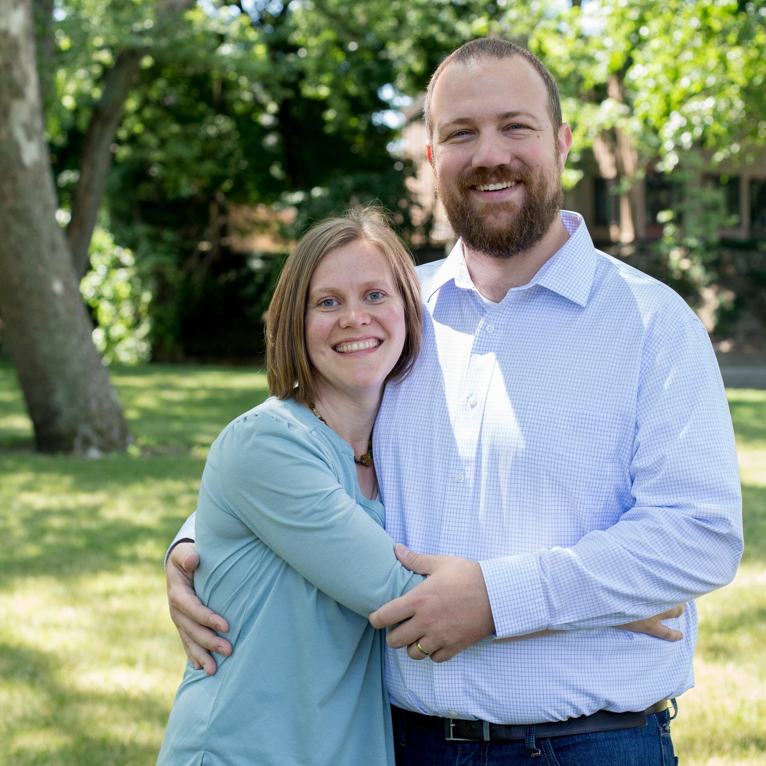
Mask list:
[[[164,702],[135,690],[106,693],[71,689],[57,680],[58,671],[52,655],[0,643],[0,678],[23,690],[24,698],[15,709],[6,711],[5,720],[0,722],[0,761],[25,766],[155,762],[159,747],[146,741],[146,726],[162,732],[168,718]],[[109,718],[104,719],[107,710]],[[8,732],[4,734],[8,724],[15,739]],[[144,731],[128,739],[126,732],[136,725]]]

